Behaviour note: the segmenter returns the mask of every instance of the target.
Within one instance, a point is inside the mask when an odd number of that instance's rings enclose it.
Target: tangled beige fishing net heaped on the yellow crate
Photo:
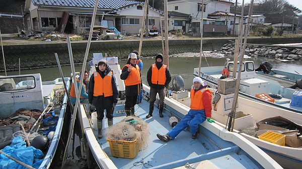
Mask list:
[[[131,116],[122,119],[105,131],[107,139],[141,142],[141,149],[147,147],[149,139],[148,123],[139,117]]]

